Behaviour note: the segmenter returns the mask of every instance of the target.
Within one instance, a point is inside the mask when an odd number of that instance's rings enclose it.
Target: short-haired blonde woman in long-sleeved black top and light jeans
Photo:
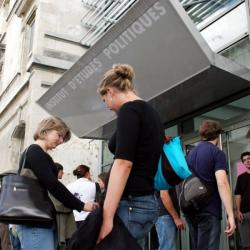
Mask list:
[[[83,203],[72,195],[57,179],[57,167],[48,150],[56,148],[70,139],[70,130],[66,124],[56,117],[40,122],[35,134],[35,143],[26,153],[26,162],[21,174],[37,178],[50,195],[70,209],[92,211],[97,207],[94,202]],[[24,154],[21,156],[23,161]],[[48,228],[17,225],[17,233],[23,250],[54,250],[56,246],[55,225]]]

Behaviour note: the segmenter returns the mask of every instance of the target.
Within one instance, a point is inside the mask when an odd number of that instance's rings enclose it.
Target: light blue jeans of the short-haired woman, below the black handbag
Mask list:
[[[56,249],[55,226],[39,228],[17,225],[17,234],[23,250],[54,250]]]

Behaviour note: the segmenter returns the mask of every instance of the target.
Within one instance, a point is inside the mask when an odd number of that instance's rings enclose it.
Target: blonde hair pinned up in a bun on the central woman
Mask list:
[[[103,96],[107,93],[107,88],[109,87],[115,87],[121,92],[127,92],[129,90],[135,92],[133,78],[134,69],[131,65],[114,64],[112,68],[104,74],[97,92]]]

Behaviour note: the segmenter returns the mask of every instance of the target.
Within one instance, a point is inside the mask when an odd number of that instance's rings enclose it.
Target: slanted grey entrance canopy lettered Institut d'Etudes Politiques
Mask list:
[[[237,93],[250,71],[213,53],[176,0],[140,0],[38,101],[79,137],[109,138],[115,114],[96,88],[115,63],[135,69],[138,94],[174,122]]]

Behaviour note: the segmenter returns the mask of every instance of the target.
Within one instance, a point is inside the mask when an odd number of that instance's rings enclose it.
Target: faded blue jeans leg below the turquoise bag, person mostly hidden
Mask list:
[[[158,250],[176,250],[177,227],[173,218],[168,214],[162,215],[155,227],[159,241]]]

